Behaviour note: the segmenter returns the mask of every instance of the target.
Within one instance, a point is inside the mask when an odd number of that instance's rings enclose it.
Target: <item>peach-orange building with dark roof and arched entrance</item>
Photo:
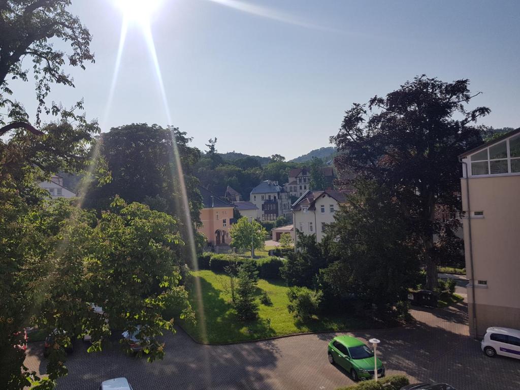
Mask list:
[[[200,211],[202,225],[197,230],[207,237],[211,245],[229,245],[231,242],[229,229],[235,206],[204,187],[199,186],[199,191],[204,207]]]

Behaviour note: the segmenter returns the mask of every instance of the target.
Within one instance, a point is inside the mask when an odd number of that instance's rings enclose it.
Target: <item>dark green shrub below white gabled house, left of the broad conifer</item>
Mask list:
[[[287,283],[296,286],[314,287],[316,275],[327,265],[324,247],[316,242],[315,235],[304,235],[297,231],[297,251],[287,253],[287,263],[281,275]]]

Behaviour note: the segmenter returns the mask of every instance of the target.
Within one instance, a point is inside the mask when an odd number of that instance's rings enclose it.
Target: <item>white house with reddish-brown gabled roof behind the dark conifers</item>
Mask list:
[[[340,191],[307,191],[292,205],[293,225],[305,235],[316,235],[321,242],[324,230],[334,222],[334,213],[345,204]]]

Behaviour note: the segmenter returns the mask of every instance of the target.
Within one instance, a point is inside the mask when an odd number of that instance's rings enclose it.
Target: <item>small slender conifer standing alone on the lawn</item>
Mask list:
[[[258,317],[257,283],[258,271],[255,262],[254,260],[246,261],[239,267],[235,302],[238,318],[242,321],[253,320]]]

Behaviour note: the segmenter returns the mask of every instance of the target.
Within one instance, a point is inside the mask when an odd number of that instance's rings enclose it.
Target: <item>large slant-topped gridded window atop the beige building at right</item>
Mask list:
[[[520,173],[520,135],[476,152],[470,160],[472,176]]]

